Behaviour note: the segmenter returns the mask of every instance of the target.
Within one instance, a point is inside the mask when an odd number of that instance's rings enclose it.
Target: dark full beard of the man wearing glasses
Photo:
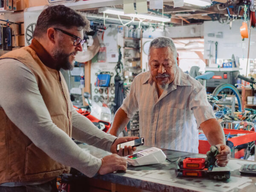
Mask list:
[[[70,63],[70,55],[72,55],[73,52],[71,54],[67,54],[64,51],[62,51],[61,49],[55,50],[55,52],[53,52],[53,58],[56,62],[56,66],[58,68],[58,70],[60,69],[64,69],[64,70],[72,70],[73,69],[73,65]]]

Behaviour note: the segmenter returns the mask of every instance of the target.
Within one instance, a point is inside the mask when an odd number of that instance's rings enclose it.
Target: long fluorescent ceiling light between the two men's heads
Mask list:
[[[168,17],[161,17],[157,15],[146,15],[146,14],[125,14],[122,9],[112,9],[108,7],[99,8],[99,13],[107,13],[112,15],[121,15],[126,17],[136,17],[140,19],[148,19],[148,20],[156,20],[161,22],[169,22],[171,21]]]

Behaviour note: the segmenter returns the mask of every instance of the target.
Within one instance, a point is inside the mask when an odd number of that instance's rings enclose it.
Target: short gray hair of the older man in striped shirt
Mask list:
[[[158,37],[154,38],[149,46],[148,55],[150,53],[151,48],[163,48],[163,47],[169,47],[169,49],[173,53],[173,57],[176,59],[177,57],[177,50],[175,47],[175,44],[173,43],[171,38],[168,37]]]

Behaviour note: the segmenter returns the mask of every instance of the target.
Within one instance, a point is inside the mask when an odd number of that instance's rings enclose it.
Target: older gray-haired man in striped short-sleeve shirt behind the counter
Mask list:
[[[110,134],[118,135],[139,111],[140,137],[145,145],[198,153],[198,129],[220,151],[217,163],[226,166],[230,148],[223,129],[207,101],[205,88],[178,67],[171,38],[151,41],[149,71],[139,74],[116,111]]]

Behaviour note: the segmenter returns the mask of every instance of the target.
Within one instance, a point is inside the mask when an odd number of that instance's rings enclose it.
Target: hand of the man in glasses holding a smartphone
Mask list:
[[[115,142],[111,146],[111,152],[116,153],[120,156],[127,156],[133,154],[133,152],[136,150],[136,147],[131,147],[131,146],[125,146],[125,148],[120,148],[119,151],[117,152],[116,147],[120,143],[125,143],[131,140],[136,140],[139,139],[139,137],[119,137],[115,140]]]

